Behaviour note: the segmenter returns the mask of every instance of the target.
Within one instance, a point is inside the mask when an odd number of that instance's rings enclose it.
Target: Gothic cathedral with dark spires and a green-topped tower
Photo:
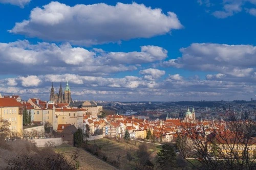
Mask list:
[[[61,83],[59,87],[59,92],[54,93],[53,83],[50,93],[50,101],[54,103],[69,103],[72,101],[71,99],[71,89],[69,87],[69,82],[67,81],[66,87],[64,89],[64,93],[62,91]]]

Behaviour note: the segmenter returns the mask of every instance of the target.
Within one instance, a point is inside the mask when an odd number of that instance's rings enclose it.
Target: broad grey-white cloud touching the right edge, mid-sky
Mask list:
[[[256,67],[256,46],[252,45],[193,43],[180,51],[182,57],[165,61],[163,65],[217,71],[234,77],[250,76]]]

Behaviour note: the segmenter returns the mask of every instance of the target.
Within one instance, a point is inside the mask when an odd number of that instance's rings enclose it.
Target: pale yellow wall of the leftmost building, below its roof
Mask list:
[[[18,114],[18,107],[1,107],[0,115],[4,119],[7,119],[10,125],[10,130],[21,132],[23,129],[23,115]]]

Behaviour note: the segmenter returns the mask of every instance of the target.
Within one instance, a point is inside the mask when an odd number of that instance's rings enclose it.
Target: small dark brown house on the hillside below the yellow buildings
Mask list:
[[[60,137],[64,142],[67,142],[69,145],[74,147],[75,145],[75,137],[74,134],[77,131],[74,125],[65,127],[62,132],[60,132]]]

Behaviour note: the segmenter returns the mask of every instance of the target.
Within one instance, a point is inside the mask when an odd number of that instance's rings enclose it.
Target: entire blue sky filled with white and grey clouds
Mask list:
[[[0,0],[0,93],[256,99],[255,0]]]

